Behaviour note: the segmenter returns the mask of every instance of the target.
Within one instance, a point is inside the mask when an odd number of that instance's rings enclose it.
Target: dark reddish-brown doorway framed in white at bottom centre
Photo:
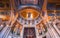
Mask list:
[[[23,38],[36,38],[35,28],[34,27],[25,27]]]

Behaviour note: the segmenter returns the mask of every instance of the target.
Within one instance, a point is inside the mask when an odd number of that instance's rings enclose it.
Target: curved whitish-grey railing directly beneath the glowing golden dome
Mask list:
[[[38,23],[40,23],[41,21],[41,18],[37,18],[35,20],[26,20],[26,19],[23,19],[23,18],[18,18],[17,20],[18,22],[20,22],[22,25],[36,25]]]

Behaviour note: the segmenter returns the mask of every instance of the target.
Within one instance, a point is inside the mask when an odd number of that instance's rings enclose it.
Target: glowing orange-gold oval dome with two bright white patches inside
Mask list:
[[[39,16],[39,11],[32,8],[23,9],[20,11],[20,15],[24,19],[36,19]]]

